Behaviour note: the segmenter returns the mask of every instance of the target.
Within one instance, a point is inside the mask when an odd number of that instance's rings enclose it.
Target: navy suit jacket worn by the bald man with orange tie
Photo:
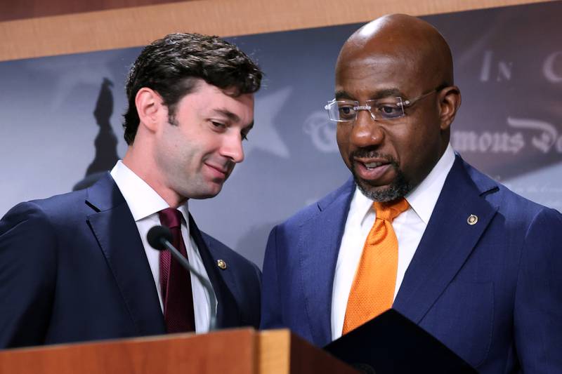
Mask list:
[[[354,190],[348,180],[273,229],[261,328],[287,326],[318,346],[331,340],[334,271]],[[457,156],[393,308],[482,373],[562,372],[562,215]]]

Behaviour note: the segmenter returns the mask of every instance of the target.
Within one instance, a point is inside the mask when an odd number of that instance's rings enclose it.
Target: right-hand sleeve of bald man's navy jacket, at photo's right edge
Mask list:
[[[514,334],[523,373],[562,371],[562,215],[538,213],[525,235]]]

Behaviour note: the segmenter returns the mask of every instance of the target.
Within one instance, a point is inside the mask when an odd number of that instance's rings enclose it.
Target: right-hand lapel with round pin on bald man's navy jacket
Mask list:
[[[455,277],[497,211],[481,196],[497,187],[477,186],[465,167],[470,168],[457,156],[393,304],[416,323]],[[478,218],[473,225],[470,215]]]

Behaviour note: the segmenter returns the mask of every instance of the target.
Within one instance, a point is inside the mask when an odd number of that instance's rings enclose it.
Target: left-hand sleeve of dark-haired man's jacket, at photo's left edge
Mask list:
[[[0,348],[43,344],[55,274],[51,223],[34,203],[15,206],[0,220]]]

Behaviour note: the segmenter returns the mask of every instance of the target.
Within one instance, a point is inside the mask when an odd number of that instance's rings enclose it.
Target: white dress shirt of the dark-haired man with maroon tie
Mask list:
[[[160,225],[158,212],[162,211],[162,209],[169,208],[169,205],[159,194],[157,194],[157,192],[155,192],[154,189],[152,189],[152,187],[138,177],[138,175],[133,173],[131,169],[126,167],[121,160],[117,161],[117,164],[111,171],[111,176],[125,198],[125,201],[129,206],[129,210],[133,215],[133,219],[135,220],[138,234],[141,235],[146,258],[148,258],[148,265],[150,265],[152,277],[154,278],[155,287],[158,292],[160,308],[163,311],[164,304],[162,302],[162,292],[160,290],[159,251],[155,250],[150,246],[150,244],[148,244],[146,234],[151,227]],[[193,238],[190,236],[189,226],[186,224],[186,222],[189,222],[188,203],[186,202],[182,206],[178,207],[178,211],[180,211],[183,215],[183,220],[181,222],[181,235],[185,242],[185,249],[188,252],[190,265],[195,267],[195,269],[197,269],[197,271],[208,280],[209,276],[207,275],[207,271],[205,270],[203,261],[201,260],[199,249],[197,248],[195,241],[193,241]],[[185,238],[189,238],[190,240],[186,240]],[[131,261],[135,260],[138,259],[131,259]],[[185,271],[187,272],[187,270]],[[191,275],[191,288],[193,293],[193,310],[195,312],[195,331],[197,333],[205,333],[209,329],[211,301],[209,300],[207,291],[203,288],[200,281],[193,275]]]

